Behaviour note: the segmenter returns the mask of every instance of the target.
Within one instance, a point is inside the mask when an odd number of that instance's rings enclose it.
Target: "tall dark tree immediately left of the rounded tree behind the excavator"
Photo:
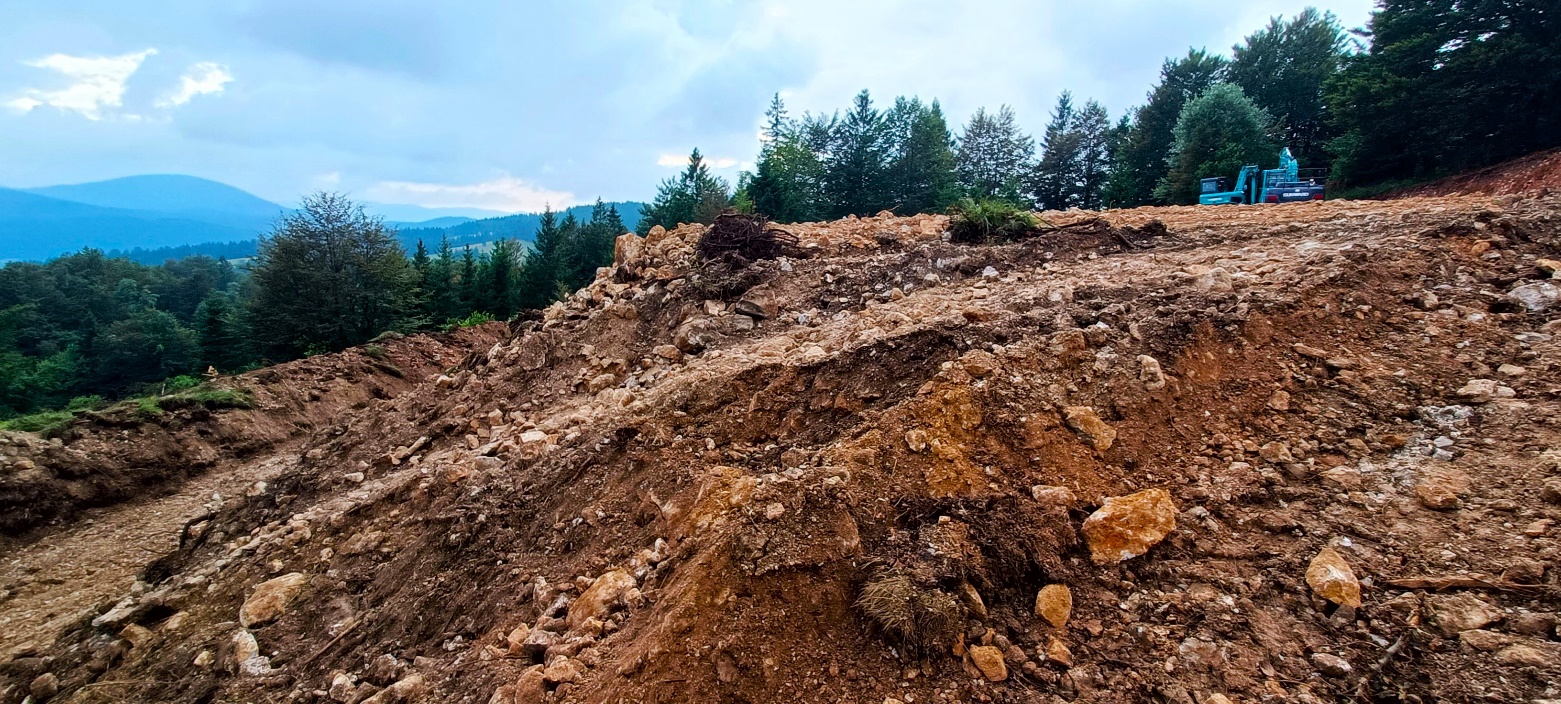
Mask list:
[[[1155,201],[1155,186],[1166,175],[1166,156],[1175,140],[1175,123],[1188,101],[1219,83],[1225,59],[1205,50],[1188,50],[1180,59],[1166,59],[1160,83],[1149,91],[1149,101],[1133,112],[1133,128],[1122,140],[1111,164],[1105,203],[1133,208]]]

